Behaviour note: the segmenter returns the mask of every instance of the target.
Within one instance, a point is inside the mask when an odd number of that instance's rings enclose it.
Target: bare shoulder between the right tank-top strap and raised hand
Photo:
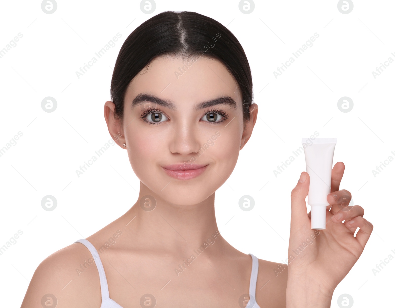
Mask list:
[[[256,302],[261,307],[285,308],[288,265],[258,259]]]

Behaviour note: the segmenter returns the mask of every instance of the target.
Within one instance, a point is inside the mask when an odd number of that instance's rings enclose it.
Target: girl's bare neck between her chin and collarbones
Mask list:
[[[196,256],[204,251],[209,257],[224,251],[229,245],[221,235],[214,212],[215,192],[194,205],[169,203],[143,183],[137,202],[125,213],[125,230],[130,245],[149,251],[170,253],[175,256]]]

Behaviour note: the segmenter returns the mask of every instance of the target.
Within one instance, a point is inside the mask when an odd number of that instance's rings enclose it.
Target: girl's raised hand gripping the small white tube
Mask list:
[[[344,164],[337,162],[332,169],[331,193],[327,196],[330,205],[327,206],[325,230],[311,229],[311,212],[307,214],[305,202],[310,183],[307,172],[302,172],[291,193],[288,246],[288,276],[291,277],[288,281],[294,284],[298,280],[302,283],[313,281],[320,292],[330,297],[361,256],[373,231],[371,222],[362,217],[363,208],[359,205],[348,206],[351,193],[345,189],[339,190],[343,173]],[[345,222],[342,223],[342,220]],[[354,237],[357,227],[360,229]]]

